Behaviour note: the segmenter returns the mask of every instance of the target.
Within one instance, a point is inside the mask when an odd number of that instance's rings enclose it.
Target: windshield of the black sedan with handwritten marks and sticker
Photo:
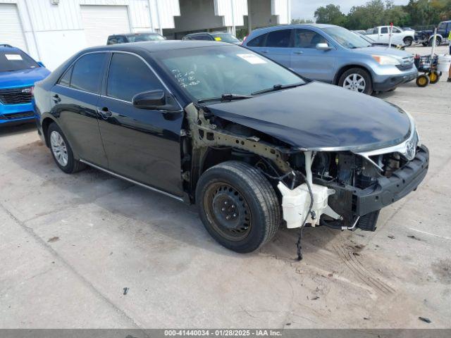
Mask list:
[[[249,95],[275,85],[304,83],[277,63],[240,46],[179,49],[154,54],[156,61],[194,99]]]

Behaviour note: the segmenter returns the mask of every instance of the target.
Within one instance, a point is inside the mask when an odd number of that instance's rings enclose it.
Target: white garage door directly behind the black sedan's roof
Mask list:
[[[127,6],[80,6],[88,46],[106,44],[109,35],[130,33]]]

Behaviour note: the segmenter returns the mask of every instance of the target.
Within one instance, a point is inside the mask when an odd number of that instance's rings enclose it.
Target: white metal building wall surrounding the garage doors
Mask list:
[[[0,4],[16,4],[27,52],[50,70],[87,47],[80,5],[128,6],[132,32],[173,28],[173,15],[180,15],[178,0],[60,0],[57,5],[50,0],[0,0]]]

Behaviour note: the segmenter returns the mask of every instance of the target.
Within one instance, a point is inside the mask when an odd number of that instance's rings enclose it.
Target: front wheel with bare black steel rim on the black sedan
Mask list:
[[[247,163],[227,161],[206,170],[197,183],[196,200],[211,237],[238,253],[259,249],[280,225],[276,192]]]

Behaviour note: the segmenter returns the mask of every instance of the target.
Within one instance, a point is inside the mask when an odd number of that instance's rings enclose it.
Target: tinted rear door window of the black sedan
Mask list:
[[[73,65],[70,87],[99,94],[105,53],[87,54]]]

